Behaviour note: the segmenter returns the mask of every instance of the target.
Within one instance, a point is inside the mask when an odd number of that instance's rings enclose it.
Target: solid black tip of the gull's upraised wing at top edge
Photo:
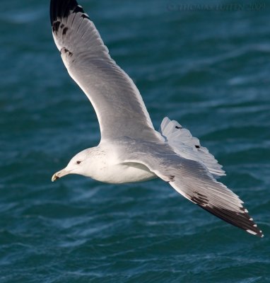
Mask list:
[[[51,24],[53,25],[54,21],[57,21],[57,18],[66,18],[69,16],[69,11],[75,11],[76,9],[83,13],[83,8],[78,6],[76,0],[51,0],[49,7]]]

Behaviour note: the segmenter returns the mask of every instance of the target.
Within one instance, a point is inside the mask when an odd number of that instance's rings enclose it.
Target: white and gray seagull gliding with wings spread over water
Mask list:
[[[199,139],[168,117],[154,129],[138,88],[77,1],[51,0],[50,18],[54,42],[92,103],[101,136],[98,146],[76,154],[52,181],[68,174],[114,184],[160,178],[211,214],[263,237],[242,200],[218,182],[225,171]]]

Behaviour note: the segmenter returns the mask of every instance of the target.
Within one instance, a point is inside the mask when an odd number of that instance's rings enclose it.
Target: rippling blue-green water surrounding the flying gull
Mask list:
[[[98,144],[98,122],[54,46],[49,1],[1,0],[1,283],[270,282],[270,5],[183,6],[200,2],[81,4],[155,127],[168,115],[199,137],[265,237],[161,180],[51,183],[74,154]]]

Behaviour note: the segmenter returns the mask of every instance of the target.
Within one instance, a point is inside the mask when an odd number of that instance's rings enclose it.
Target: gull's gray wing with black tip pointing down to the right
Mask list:
[[[129,141],[129,144],[131,142]],[[243,202],[218,182],[198,161],[182,158],[170,146],[145,143],[129,153],[129,163],[141,163],[177,192],[200,207],[248,233],[263,237],[262,231],[243,207]],[[135,148],[135,150],[134,150]]]

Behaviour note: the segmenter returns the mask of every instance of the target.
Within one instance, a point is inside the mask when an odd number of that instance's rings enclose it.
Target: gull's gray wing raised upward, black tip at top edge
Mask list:
[[[112,60],[83,8],[75,0],[51,0],[50,17],[54,42],[95,109],[102,139],[159,139],[134,82]]]

